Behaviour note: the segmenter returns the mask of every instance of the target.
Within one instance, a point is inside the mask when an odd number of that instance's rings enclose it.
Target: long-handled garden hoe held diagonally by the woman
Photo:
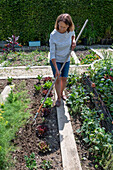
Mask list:
[[[82,32],[83,32],[83,30],[84,30],[84,28],[85,28],[85,26],[86,26],[87,22],[88,22],[88,19],[85,21],[85,23],[84,23],[83,27],[81,28],[81,31],[80,31],[80,33],[78,34],[78,36],[77,36],[77,38],[76,38],[76,40],[75,40],[75,42],[76,42],[76,43],[77,43],[78,39],[80,38],[80,36],[81,36],[81,34],[82,34]],[[71,54],[71,49],[70,49],[69,54],[68,54],[68,55],[67,55],[67,57],[66,57],[65,62],[63,63],[63,65],[62,65],[62,67],[61,67],[61,69],[60,69],[60,74],[61,74],[61,71],[62,71],[62,69],[63,69],[63,67],[64,67],[64,65],[65,65],[65,63],[66,63],[66,61],[67,61],[68,57],[70,56],[70,54]],[[44,100],[43,100],[42,104],[40,105],[40,107],[39,107],[39,109],[38,109],[38,111],[37,111],[37,113],[36,113],[36,115],[35,115],[35,117],[34,117],[34,119],[33,119],[33,121],[34,121],[33,125],[35,125],[35,124],[36,124],[36,118],[37,118],[37,115],[39,114],[39,112],[40,112],[40,110],[41,110],[42,106],[44,105],[44,103],[45,103],[45,101],[46,101],[46,99],[47,99],[47,97],[48,97],[48,95],[49,95],[49,93],[50,93],[51,89],[53,88],[53,86],[54,86],[54,84],[55,84],[55,82],[56,82],[57,78],[58,78],[58,76],[57,76],[57,77],[55,77],[55,80],[54,80],[53,84],[51,85],[51,87],[50,87],[50,89],[49,89],[48,93],[46,94],[46,96],[45,96],[45,98],[44,98]]]

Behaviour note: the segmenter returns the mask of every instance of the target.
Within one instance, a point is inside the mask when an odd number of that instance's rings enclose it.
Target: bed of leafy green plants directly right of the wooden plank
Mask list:
[[[104,127],[106,117],[96,109],[93,92],[76,75],[69,76],[68,87],[67,105],[83,169],[112,170],[112,134]]]

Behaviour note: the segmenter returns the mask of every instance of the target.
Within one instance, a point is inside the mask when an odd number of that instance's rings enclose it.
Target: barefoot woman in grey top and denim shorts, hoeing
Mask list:
[[[57,17],[55,23],[55,29],[50,34],[50,65],[54,74],[54,77],[58,76],[55,89],[58,99],[56,106],[61,105],[61,98],[65,100],[63,91],[66,87],[70,57],[68,58],[61,75],[59,70],[61,69],[70,48],[74,50],[76,46],[74,24],[69,14],[61,14]]]

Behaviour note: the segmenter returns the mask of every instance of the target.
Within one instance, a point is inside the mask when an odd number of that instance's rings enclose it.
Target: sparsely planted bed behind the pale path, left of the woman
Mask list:
[[[1,53],[0,63],[3,61],[3,67],[48,65],[48,51],[10,52],[7,56]]]

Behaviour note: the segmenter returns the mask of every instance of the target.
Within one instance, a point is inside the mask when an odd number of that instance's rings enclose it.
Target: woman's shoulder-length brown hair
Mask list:
[[[56,22],[55,22],[55,29],[57,31],[59,30],[59,22],[60,21],[64,22],[66,25],[69,25],[69,27],[67,28],[68,32],[74,30],[75,26],[74,26],[72,18],[69,14],[61,14],[57,17]]]

